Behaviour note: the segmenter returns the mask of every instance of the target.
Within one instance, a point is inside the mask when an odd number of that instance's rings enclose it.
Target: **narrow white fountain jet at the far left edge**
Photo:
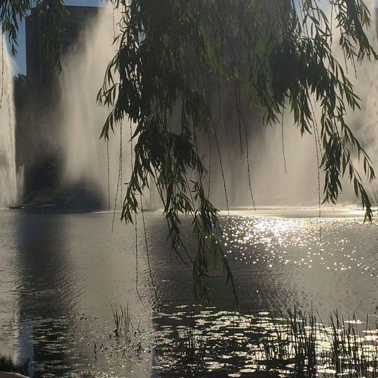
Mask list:
[[[0,208],[14,205],[17,198],[15,161],[15,115],[10,56],[5,36],[0,58]]]

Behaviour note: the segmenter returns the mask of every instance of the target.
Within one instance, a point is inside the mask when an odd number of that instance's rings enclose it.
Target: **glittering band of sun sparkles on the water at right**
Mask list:
[[[267,268],[295,265],[340,274],[350,270],[378,277],[372,263],[364,261],[361,228],[375,230],[358,218],[324,218],[320,241],[318,218],[230,217],[224,247],[234,261]],[[357,231],[356,231],[357,230]],[[365,230],[366,233],[366,230]],[[290,251],[290,252],[288,252]],[[377,269],[378,270],[378,269]]]

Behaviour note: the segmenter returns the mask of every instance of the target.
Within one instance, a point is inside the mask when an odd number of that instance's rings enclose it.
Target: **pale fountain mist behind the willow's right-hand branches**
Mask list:
[[[373,21],[371,28],[368,30],[368,37],[377,51],[376,9],[372,2],[366,3],[370,3],[367,5],[370,7]],[[331,11],[326,9],[327,4],[329,7],[329,2],[325,1],[323,4],[330,20]],[[333,21],[333,25],[335,25],[335,21]],[[345,69],[344,54],[337,43],[339,30],[334,28],[333,33],[332,50],[336,59]],[[348,78],[354,85],[355,92],[361,98],[361,110],[355,109],[355,111],[352,111],[352,109],[348,109],[346,122],[366,149],[377,172],[378,100],[376,91],[378,88],[378,66],[375,62],[364,59],[362,63],[356,64],[356,72],[354,72],[351,64],[349,64],[347,72]],[[320,127],[319,110],[320,107],[314,102],[312,111],[315,119],[317,119],[318,127]],[[320,198],[323,199],[324,186],[324,173],[322,169],[318,170],[322,157],[319,151],[318,155],[316,153],[316,133],[312,133],[312,135],[305,134],[301,137],[300,130],[294,126],[292,116],[288,112],[285,114],[283,126],[280,123],[263,126],[258,120],[250,120],[249,126],[252,130],[251,132],[254,133],[253,138],[250,138],[249,144],[252,186],[256,205],[316,206],[319,200],[319,193]],[[318,131],[320,132],[320,130]],[[378,193],[376,183],[368,185],[367,178],[364,177],[363,165],[358,163],[356,156],[353,159],[354,165],[358,167],[358,172],[360,172],[363,181],[367,185],[373,202],[376,202],[374,200]],[[231,171],[237,171],[236,175],[239,177],[236,185],[237,191],[234,196],[230,196],[233,204],[252,205],[251,201],[248,203],[248,182],[245,180],[247,164],[245,160],[244,148],[244,158],[239,160],[238,163],[235,162],[235,159],[231,162]],[[229,171],[229,168],[226,168],[225,171]],[[235,180],[229,179],[228,182],[231,187],[232,181]],[[349,184],[348,178],[343,180],[343,193],[338,202],[358,202],[354,195],[353,185]]]

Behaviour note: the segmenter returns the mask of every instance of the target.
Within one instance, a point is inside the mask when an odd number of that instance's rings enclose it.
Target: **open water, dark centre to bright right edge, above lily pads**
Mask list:
[[[223,248],[243,312],[281,310],[294,302],[302,308],[313,306],[324,315],[335,308],[362,318],[375,311],[376,225],[364,224],[361,218],[324,218],[320,241],[317,218],[233,216],[223,223],[229,228]],[[183,221],[183,229],[188,231],[183,239],[193,255],[196,244],[190,221]],[[152,249],[159,251],[153,254],[152,267],[159,277],[161,302],[171,307],[191,304],[192,272],[173,251],[159,250],[164,237],[161,233],[151,240],[156,245]],[[224,288],[223,271],[218,268],[210,273],[212,303],[230,309],[232,293]]]

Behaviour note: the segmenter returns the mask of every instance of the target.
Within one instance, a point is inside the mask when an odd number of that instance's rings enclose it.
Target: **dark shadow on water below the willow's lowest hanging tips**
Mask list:
[[[169,249],[166,242],[167,230],[163,222],[150,227],[146,220],[146,232],[149,247],[150,266],[152,276],[155,277],[155,284],[158,291],[158,299],[155,300],[155,310],[176,311],[175,308],[181,305],[192,305],[195,301],[193,290],[192,263],[197,252],[197,241],[191,233],[191,220],[182,220],[182,240],[185,243],[186,251],[181,249],[181,257],[174,250]],[[294,300],[300,297],[300,286],[290,285],[292,266],[283,263],[272,266],[271,252],[273,246],[266,250],[264,240],[250,237],[253,225],[248,225],[246,218],[233,217],[229,221],[226,217],[221,219],[225,226],[223,251],[226,254],[235,278],[235,284],[242,312],[260,312],[286,308]],[[159,227],[157,229],[157,227]],[[231,230],[230,230],[231,227]],[[234,239],[234,240],[233,240]],[[248,251],[245,251],[248,241]],[[162,249],[162,246],[165,248]],[[141,255],[145,249],[141,248]],[[250,261],[246,260],[248,257]],[[145,257],[144,257],[145,258]],[[257,263],[256,263],[257,262]],[[209,260],[209,297],[213,306],[219,310],[232,310],[234,295],[231,285],[225,286],[225,275],[222,264],[218,261],[214,264],[212,257]],[[144,274],[145,279],[150,277]],[[147,285],[146,284],[146,285]],[[180,288],[177,290],[177,288]],[[153,293],[152,293],[153,294]],[[310,303],[310,301],[309,301]]]

